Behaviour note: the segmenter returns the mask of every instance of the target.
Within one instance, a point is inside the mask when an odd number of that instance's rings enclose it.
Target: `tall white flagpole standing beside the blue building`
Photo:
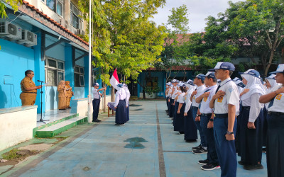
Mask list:
[[[92,96],[91,96],[91,79],[92,79],[92,0],[89,0],[89,94],[88,94],[88,122],[92,122]]]

